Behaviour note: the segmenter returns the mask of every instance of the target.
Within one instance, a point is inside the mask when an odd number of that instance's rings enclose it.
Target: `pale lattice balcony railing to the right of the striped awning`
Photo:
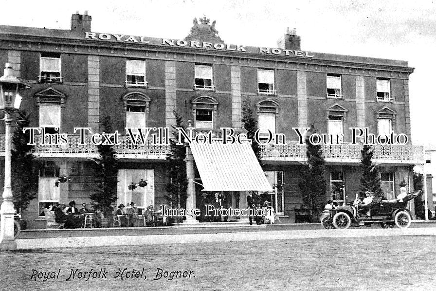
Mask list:
[[[327,164],[359,164],[363,145],[322,145]],[[412,165],[424,164],[422,145],[373,145],[374,164]],[[287,141],[285,145],[261,145],[262,160],[270,163],[297,164],[307,161],[306,145]]]

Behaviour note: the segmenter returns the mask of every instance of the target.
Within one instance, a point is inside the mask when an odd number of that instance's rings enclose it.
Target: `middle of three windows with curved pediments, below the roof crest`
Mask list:
[[[199,129],[214,128],[217,116],[218,101],[210,96],[200,96],[192,100],[192,114],[194,127]]]

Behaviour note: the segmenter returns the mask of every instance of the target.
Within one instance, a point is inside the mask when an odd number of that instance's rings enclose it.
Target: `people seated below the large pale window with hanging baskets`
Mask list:
[[[135,227],[135,226],[151,226],[154,225],[153,205],[149,205],[142,214],[144,218],[140,218],[138,208],[134,202],[130,203],[130,208],[126,208],[124,204],[120,204],[118,209],[114,207],[113,217],[114,224],[119,219],[120,227]],[[115,210],[116,209],[116,210]],[[145,223],[145,225],[144,225]]]

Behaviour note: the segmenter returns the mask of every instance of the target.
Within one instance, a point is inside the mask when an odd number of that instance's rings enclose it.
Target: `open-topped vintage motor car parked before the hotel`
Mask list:
[[[382,200],[375,198],[367,205],[357,205],[354,202],[346,206],[334,206],[326,210],[322,225],[326,229],[346,229],[349,226],[371,226],[380,223],[382,228],[408,228],[412,221],[410,211],[406,208],[409,200],[415,199],[421,190],[408,193],[402,200]],[[354,203],[354,205],[353,205]]]

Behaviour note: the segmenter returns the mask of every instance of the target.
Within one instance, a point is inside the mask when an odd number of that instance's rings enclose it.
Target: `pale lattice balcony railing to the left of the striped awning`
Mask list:
[[[91,143],[91,136],[85,136],[86,145],[78,145],[80,135],[69,134],[66,145],[39,145],[40,136],[35,136],[36,146],[32,153],[35,157],[50,158],[98,158],[97,146]],[[119,145],[114,146],[116,156],[120,159],[165,160],[169,151],[167,145],[153,145],[147,141],[144,145],[134,145],[127,136],[119,137]],[[0,134],[0,156],[4,156],[4,133]]]

